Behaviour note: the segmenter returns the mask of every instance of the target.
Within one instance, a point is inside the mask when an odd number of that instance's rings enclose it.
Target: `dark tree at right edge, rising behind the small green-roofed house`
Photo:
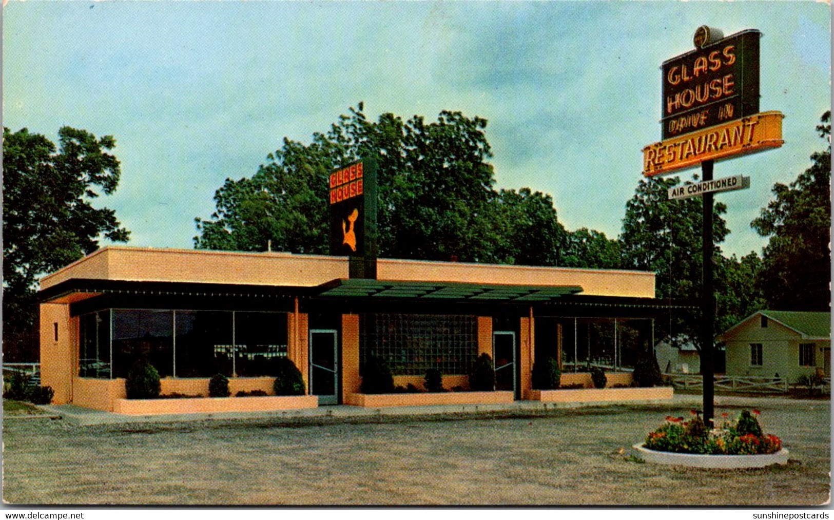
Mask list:
[[[761,287],[771,309],[831,309],[831,111],[816,129],[827,148],[791,184],[774,184],[776,198],[751,223],[770,237]]]

